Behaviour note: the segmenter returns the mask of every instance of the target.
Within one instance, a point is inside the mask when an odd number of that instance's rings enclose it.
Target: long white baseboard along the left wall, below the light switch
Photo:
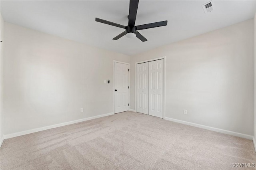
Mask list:
[[[109,116],[109,115],[114,115],[114,113],[107,113],[107,114],[103,114],[103,115],[98,115],[98,116],[93,116],[93,117],[87,117],[87,118],[84,118],[84,119],[78,119],[78,120],[76,120],[76,121],[70,121],[70,122],[65,122],[65,123],[59,123],[59,124],[50,125],[50,126],[47,126],[47,127],[34,128],[34,129],[31,129],[31,130],[25,130],[25,131],[22,131],[22,132],[16,132],[16,133],[12,133],[12,134],[6,134],[6,135],[4,135],[4,138],[3,138],[3,139],[13,138],[13,137],[16,137],[16,136],[22,136],[22,135],[24,135],[24,134],[30,134],[30,133],[39,132],[39,131],[42,131],[42,130],[48,130],[48,129],[51,129],[51,128],[63,127],[63,126],[66,126],[66,125],[71,125],[71,124],[74,124],[74,123],[89,121],[89,120],[92,120],[92,119],[97,119],[97,118],[105,117],[105,116]]]

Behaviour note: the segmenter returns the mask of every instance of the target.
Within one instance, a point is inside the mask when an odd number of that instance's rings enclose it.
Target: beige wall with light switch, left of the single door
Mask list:
[[[129,56],[6,22],[4,29],[4,134],[113,112],[113,60]]]

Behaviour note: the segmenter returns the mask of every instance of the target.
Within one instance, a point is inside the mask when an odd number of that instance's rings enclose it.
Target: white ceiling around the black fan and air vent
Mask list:
[[[254,17],[255,1],[213,1],[214,10],[204,14],[200,1],[146,1],[138,6],[136,25],[168,20],[164,27],[140,30],[148,39],[125,36],[115,41],[122,28],[95,22],[95,17],[128,25],[129,1],[3,1],[6,22],[96,47],[133,55],[223,28]]]

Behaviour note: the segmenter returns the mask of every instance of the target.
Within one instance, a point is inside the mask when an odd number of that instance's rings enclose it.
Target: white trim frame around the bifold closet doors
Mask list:
[[[159,59],[164,59],[163,60],[163,119],[165,119],[165,56],[163,57],[158,57],[158,58],[153,58],[153,59],[148,59],[148,60],[144,60],[144,61],[139,61],[135,63],[135,112],[137,113],[137,64],[140,63],[145,63],[145,62],[150,62],[150,61],[155,61],[155,60],[159,60]],[[130,76],[130,75],[129,75]],[[130,98],[130,97],[129,97]]]

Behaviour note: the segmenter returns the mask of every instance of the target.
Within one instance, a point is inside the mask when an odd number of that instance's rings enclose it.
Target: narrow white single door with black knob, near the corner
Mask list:
[[[129,65],[115,62],[114,69],[114,113],[120,113],[129,110]]]

